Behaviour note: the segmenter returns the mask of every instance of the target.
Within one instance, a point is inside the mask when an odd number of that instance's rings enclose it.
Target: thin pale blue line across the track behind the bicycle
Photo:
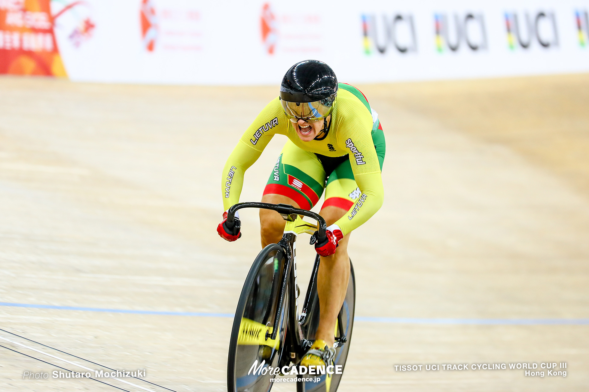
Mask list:
[[[127,310],[87,308],[77,306],[35,305],[0,302],[0,306],[20,308],[80,310],[106,313],[181,315],[193,317],[233,317],[232,313],[171,312],[157,310]],[[386,324],[447,324],[447,325],[589,325],[589,318],[410,318],[410,317],[354,317],[354,321]]]

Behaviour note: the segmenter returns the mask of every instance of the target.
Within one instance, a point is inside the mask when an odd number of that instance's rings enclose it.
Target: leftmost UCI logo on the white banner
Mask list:
[[[385,54],[389,46],[401,53],[417,51],[413,15],[382,15],[379,20],[382,22],[377,22],[375,15],[362,15],[365,54],[372,54],[373,48]]]

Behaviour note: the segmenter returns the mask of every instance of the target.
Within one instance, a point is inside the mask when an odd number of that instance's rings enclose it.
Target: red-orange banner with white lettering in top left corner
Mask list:
[[[50,0],[0,0],[0,74],[67,77]]]

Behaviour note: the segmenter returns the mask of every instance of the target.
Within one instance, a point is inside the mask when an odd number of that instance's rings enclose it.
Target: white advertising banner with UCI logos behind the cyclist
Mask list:
[[[589,71],[587,0],[50,4],[75,81],[276,84],[308,58],[348,82]]]

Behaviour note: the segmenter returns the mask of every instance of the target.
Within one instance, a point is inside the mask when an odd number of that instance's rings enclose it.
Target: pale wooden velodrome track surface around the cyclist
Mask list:
[[[339,390],[587,391],[589,75],[359,88],[385,129],[386,195],[350,241],[357,319]],[[218,237],[220,171],[276,94],[0,78],[0,328],[176,391],[226,390],[259,223],[244,211],[243,237]],[[283,142],[242,201],[260,199]],[[544,362],[567,376],[470,370]],[[22,379],[52,370],[0,347],[2,391],[114,390]]]

